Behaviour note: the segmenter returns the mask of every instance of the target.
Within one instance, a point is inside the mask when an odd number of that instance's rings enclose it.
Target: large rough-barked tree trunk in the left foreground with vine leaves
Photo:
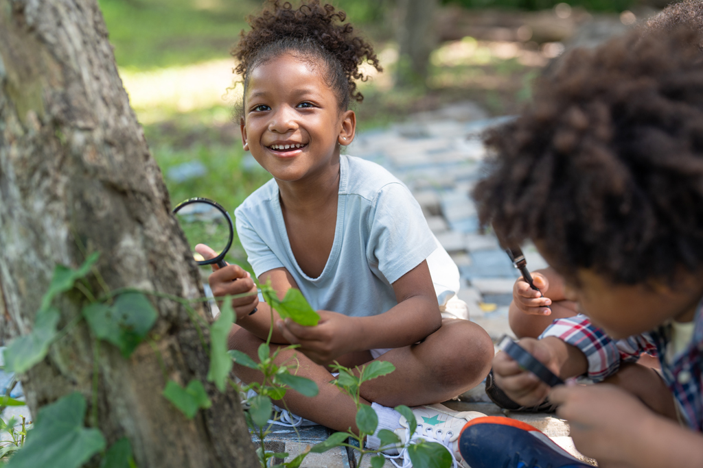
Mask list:
[[[0,335],[6,341],[30,332],[54,266],[77,267],[82,248],[101,253],[98,269],[110,289],[202,295],[96,1],[0,0]],[[192,378],[205,382],[209,361],[186,310],[172,300],[152,302],[159,318],[150,340],[160,356],[146,342],[129,359],[112,345],[100,347],[98,425],[108,446],[127,436],[141,468],[257,466],[233,389],[220,394],[206,385],[212,408],[193,420],[161,395],[165,377],[183,386]],[[69,293],[54,303],[61,328],[84,298]],[[21,376],[34,415],[74,391],[86,397],[90,414],[91,343],[81,322]]]

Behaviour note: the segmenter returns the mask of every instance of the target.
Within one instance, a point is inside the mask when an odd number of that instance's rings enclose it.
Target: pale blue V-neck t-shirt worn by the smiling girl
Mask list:
[[[430,231],[420,205],[408,187],[376,163],[340,156],[335,239],[317,278],[307,276],[292,253],[276,180],[248,196],[234,213],[256,276],[284,267],[316,310],[347,316],[387,312],[397,305],[392,283],[425,259],[440,304],[458,290],[458,268]]]

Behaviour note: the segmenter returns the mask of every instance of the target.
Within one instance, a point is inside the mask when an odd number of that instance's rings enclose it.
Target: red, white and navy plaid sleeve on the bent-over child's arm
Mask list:
[[[643,352],[657,353],[652,338],[647,334],[615,341],[605,331],[593,326],[583,314],[553,321],[539,339],[548,336],[555,336],[579,348],[588,359],[588,377],[594,382],[617,373],[621,361],[637,361]]]

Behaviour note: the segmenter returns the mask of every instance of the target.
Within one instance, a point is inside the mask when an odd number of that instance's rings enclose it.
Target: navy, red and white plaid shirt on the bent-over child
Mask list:
[[[641,353],[657,356],[662,363],[662,377],[673,394],[681,414],[692,429],[703,431],[703,301],[695,315],[693,340],[683,352],[664,359],[671,342],[671,324],[662,325],[642,335],[615,341],[591,324],[585,315],[555,320],[540,336],[555,336],[573,345],[588,359],[588,377],[600,382],[617,373],[622,361],[637,361]]]

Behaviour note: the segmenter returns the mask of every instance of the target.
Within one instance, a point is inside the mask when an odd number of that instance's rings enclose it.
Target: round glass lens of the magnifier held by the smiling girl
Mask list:
[[[195,251],[195,246],[199,243],[212,248],[216,255],[220,255],[227,248],[230,236],[229,221],[214,206],[197,201],[190,203],[178,210],[176,219],[186,234],[196,262],[209,260]]]

